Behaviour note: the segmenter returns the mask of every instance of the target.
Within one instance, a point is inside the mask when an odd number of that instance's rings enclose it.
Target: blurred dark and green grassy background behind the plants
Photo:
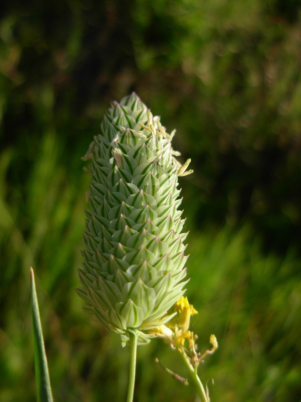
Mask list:
[[[301,3],[6,0],[0,4],[0,401],[34,401],[29,267],[56,401],[124,401],[128,348],[81,310],[85,154],[135,90],[190,157],[187,296],[213,402],[301,401]],[[195,400],[160,340],[136,402]]]

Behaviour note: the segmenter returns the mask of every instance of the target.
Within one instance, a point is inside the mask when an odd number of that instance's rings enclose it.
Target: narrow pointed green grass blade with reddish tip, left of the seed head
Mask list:
[[[33,344],[35,349],[35,375],[39,402],[53,402],[47,357],[39,312],[35,274],[31,268],[31,300],[33,319]]]

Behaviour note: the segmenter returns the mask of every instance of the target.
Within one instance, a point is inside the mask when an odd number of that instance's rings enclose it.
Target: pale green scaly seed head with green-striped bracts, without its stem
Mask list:
[[[101,123],[101,134],[84,160],[91,175],[83,232],[82,286],[84,309],[106,328],[120,333],[165,324],[167,310],[184,293],[187,256],[178,176],[180,165],[158,116],[153,117],[133,93],[113,102]]]

